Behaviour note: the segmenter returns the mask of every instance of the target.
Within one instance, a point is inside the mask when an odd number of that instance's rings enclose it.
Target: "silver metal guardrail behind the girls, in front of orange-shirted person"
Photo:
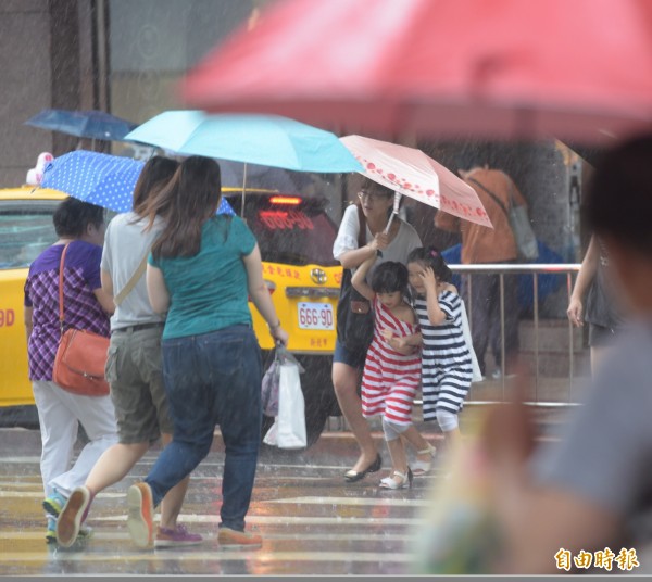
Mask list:
[[[560,407],[560,406],[574,406],[576,403],[572,402],[572,387],[573,379],[575,378],[575,338],[573,333],[573,324],[567,320],[568,324],[568,394],[565,401],[541,401],[539,398],[539,385],[540,385],[540,374],[539,374],[539,275],[565,275],[566,276],[566,292],[567,300],[570,301],[570,294],[573,292],[573,276],[579,271],[580,264],[578,263],[551,263],[551,264],[525,264],[525,263],[509,263],[509,264],[482,264],[482,265],[453,265],[449,267],[455,274],[466,276],[467,284],[469,287],[468,304],[466,308],[468,311],[469,326],[473,325],[473,303],[471,302],[471,288],[473,286],[474,274],[485,275],[499,275],[500,284],[500,322],[501,322],[501,379],[502,379],[502,401],[505,401],[505,389],[506,389],[506,374],[505,374],[505,288],[504,288],[504,276],[505,275],[531,275],[532,277],[532,319],[535,328],[535,398],[532,402],[527,404],[541,407]],[[500,401],[478,401],[474,400],[473,396],[473,384],[472,392],[467,404],[478,405],[488,404],[490,402]],[[416,403],[415,403],[416,404]]]

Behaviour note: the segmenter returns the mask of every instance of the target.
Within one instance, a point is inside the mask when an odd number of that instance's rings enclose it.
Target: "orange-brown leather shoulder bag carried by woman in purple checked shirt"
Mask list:
[[[109,338],[86,329],[68,328],[64,331],[63,265],[67,244],[61,253],[59,265],[59,322],[61,340],[54,357],[52,380],[63,390],[83,396],[106,396],[110,389],[104,379],[109,352]]]

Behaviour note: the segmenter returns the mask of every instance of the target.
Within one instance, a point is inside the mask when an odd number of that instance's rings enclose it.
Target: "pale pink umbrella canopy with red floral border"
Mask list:
[[[340,141],[363,166],[367,178],[424,204],[491,227],[477,192],[440,163],[415,148],[346,136]]]

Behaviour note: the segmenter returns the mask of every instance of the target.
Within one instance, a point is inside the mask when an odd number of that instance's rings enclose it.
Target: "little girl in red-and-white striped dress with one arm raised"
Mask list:
[[[374,339],[369,345],[362,376],[362,415],[383,417],[383,432],[391,456],[392,470],[380,481],[385,489],[412,486],[412,471],[403,444],[418,438],[412,423],[412,405],[421,378],[418,349],[409,339],[418,336],[418,324],[408,296],[408,268],[402,263],[386,262],[366,275],[376,261],[365,261],[353,275],[353,287],[374,308]],[[416,435],[411,434],[412,432]]]

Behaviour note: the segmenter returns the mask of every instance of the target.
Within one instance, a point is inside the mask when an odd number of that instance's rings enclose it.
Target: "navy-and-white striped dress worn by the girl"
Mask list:
[[[446,320],[438,326],[428,319],[425,298],[414,300],[414,311],[423,336],[424,420],[435,420],[438,408],[460,413],[473,377],[471,352],[462,332],[462,300],[451,291],[441,292],[438,299],[446,314]]]

